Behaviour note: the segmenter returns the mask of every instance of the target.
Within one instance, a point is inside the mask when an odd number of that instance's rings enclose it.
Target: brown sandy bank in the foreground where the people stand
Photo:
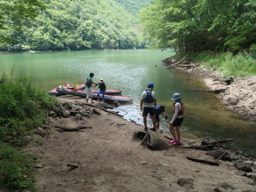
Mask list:
[[[102,111],[96,108],[97,103],[88,106],[81,97],[63,95],[58,99],[70,102],[70,115],[63,118],[50,112],[53,116],[49,117],[49,134],[35,134],[26,147],[38,156],[39,192],[256,190],[253,179],[241,176],[245,172],[237,172],[236,163],[207,156],[204,150],[182,148],[200,145],[201,140],[182,138],[183,145],[175,146],[166,138],[170,134],[150,131],[169,146],[166,150],[151,150],[141,145],[140,139],[134,139],[134,132],[143,132],[142,125]],[[75,111],[84,115],[74,115]],[[58,126],[88,128],[61,131]],[[38,140],[42,145],[35,142]],[[228,154],[232,156],[231,152]],[[186,157],[214,161],[219,166],[189,161]],[[254,163],[243,156],[239,159]],[[252,171],[255,172],[255,165]]]

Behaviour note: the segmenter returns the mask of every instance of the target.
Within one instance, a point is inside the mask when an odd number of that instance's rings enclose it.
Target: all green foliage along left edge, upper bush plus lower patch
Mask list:
[[[0,80],[0,188],[35,191],[36,158],[20,147],[24,138],[45,124],[45,112],[58,102],[37,90],[31,78],[14,79],[13,73],[14,67],[10,77],[3,74]],[[37,143],[42,145],[42,141]]]

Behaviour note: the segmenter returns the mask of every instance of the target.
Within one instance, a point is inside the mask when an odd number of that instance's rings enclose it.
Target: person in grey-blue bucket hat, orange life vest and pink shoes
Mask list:
[[[173,145],[182,145],[180,142],[180,125],[183,122],[183,114],[184,114],[184,103],[182,102],[180,98],[179,93],[174,93],[172,96],[172,100],[175,100],[175,103],[173,103],[173,118],[170,122],[169,129],[173,136],[173,140],[170,141],[170,143],[173,143]],[[175,131],[176,134],[175,134]]]

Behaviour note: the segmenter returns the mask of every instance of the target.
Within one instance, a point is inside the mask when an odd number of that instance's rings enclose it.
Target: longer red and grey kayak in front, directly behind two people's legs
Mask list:
[[[79,97],[87,96],[86,90],[74,91],[74,90],[70,90],[70,89],[61,88],[60,90],[57,90],[57,92],[60,92],[62,94],[65,93],[65,95],[74,95],[74,96],[79,96]],[[92,95],[93,95],[93,99],[98,99],[97,93],[93,93]],[[102,94],[99,95],[99,98],[102,100]],[[128,98],[128,97],[118,96],[118,95],[105,95],[105,100],[106,101],[117,100],[118,102],[132,102],[133,99]]]

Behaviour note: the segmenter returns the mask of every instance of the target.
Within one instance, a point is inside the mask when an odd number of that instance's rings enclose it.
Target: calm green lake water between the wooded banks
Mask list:
[[[216,98],[217,95],[203,92],[207,87],[201,77],[166,69],[161,60],[172,54],[147,50],[0,54],[0,75],[3,72],[10,74],[14,65],[16,76],[32,76],[36,86],[49,92],[67,83],[73,86],[83,84],[93,72],[95,82],[104,78],[108,89],[123,90],[123,96],[134,99],[131,104],[122,104],[115,110],[120,111],[125,119],[139,124],[143,124],[141,93],[152,82],[156,85],[154,92],[157,105],[164,105],[170,116],[173,115],[171,97],[173,93],[180,93],[186,105],[181,127],[183,137],[235,138],[235,141],[229,141],[225,146],[255,157],[255,122],[228,111]],[[170,120],[161,116],[160,127],[164,131],[168,131]],[[148,119],[148,122],[152,126],[152,121]]]

